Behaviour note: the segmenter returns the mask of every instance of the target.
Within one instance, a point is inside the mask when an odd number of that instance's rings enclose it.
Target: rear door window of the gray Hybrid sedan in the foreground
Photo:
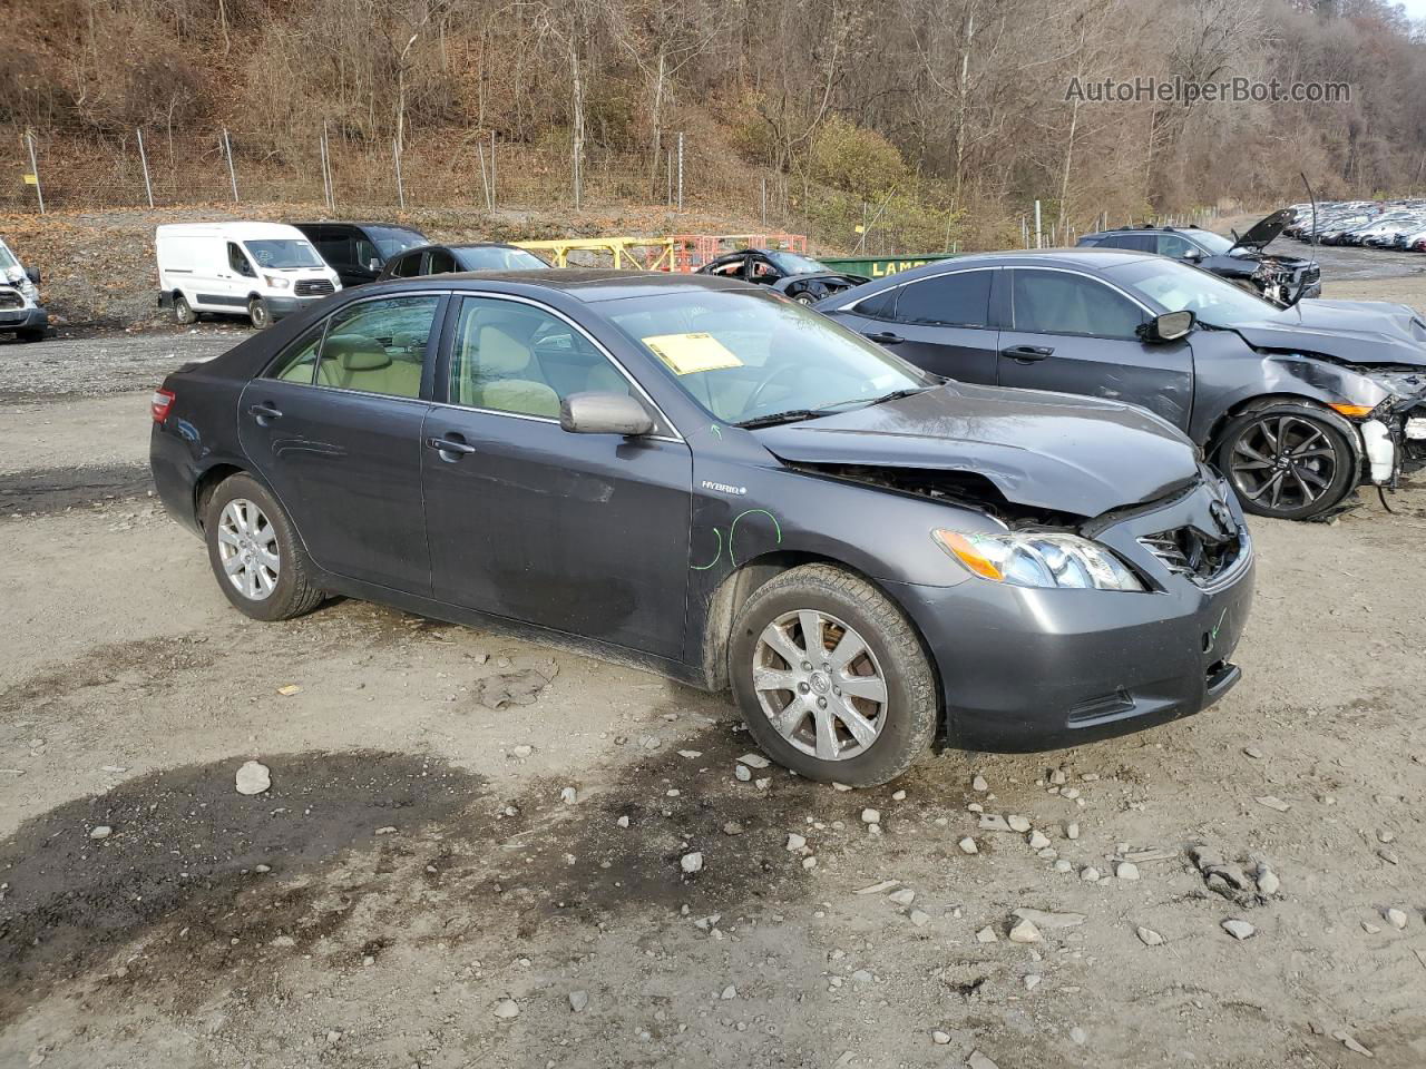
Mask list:
[[[321,386],[419,398],[441,298],[361,301],[331,316],[317,365]]]

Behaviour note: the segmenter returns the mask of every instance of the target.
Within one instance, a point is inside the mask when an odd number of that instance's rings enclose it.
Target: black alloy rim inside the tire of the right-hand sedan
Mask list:
[[[1336,446],[1316,422],[1269,415],[1239,432],[1229,477],[1246,500],[1275,512],[1296,512],[1332,489],[1339,460]]]

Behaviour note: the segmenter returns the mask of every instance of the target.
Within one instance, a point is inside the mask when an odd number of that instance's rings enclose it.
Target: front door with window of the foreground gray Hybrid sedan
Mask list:
[[[468,296],[452,315],[446,403],[426,416],[421,450],[435,597],[680,656],[689,446],[672,426],[639,439],[562,430],[570,393],[629,392],[657,412],[552,309]]]

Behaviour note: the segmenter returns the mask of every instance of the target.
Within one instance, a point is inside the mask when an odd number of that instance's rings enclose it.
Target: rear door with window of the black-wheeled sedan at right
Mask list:
[[[838,318],[918,368],[960,382],[994,383],[997,331],[990,295],[995,272],[970,268],[921,278]]]

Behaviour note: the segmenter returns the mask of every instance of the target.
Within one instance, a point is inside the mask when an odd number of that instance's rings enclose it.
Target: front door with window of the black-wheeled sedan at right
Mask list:
[[[1010,329],[1000,385],[1088,393],[1158,412],[1181,429],[1192,415],[1188,341],[1147,344],[1149,311],[1114,286],[1062,268],[1005,268]]]

